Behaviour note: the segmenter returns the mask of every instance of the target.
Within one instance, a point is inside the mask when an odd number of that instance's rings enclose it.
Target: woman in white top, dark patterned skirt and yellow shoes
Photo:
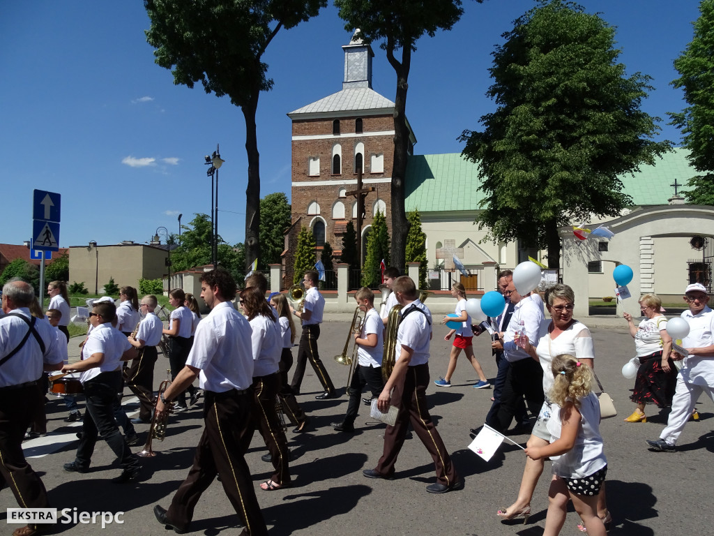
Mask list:
[[[660,312],[661,308],[662,300],[657,294],[643,294],[640,311],[645,318],[639,326],[635,326],[630,313],[623,313],[640,358],[635,390],[630,397],[637,407],[625,422],[647,422],[645,404],[655,404],[660,409],[672,405],[677,369],[670,357],[672,337],[667,333],[667,317]]]

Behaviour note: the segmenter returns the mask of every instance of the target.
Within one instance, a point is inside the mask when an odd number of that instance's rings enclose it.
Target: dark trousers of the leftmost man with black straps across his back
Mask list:
[[[25,460],[22,440],[44,405],[38,385],[0,388],[0,489],[8,485],[23,508],[47,508],[47,490]]]

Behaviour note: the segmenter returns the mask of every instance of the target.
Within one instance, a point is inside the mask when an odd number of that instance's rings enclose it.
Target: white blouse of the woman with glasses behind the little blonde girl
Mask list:
[[[543,392],[548,397],[550,387],[553,387],[553,357],[560,354],[570,354],[575,359],[595,359],[595,347],[593,347],[593,337],[590,329],[577,320],[570,324],[568,329],[561,332],[555,339],[550,339],[548,329],[552,320],[545,319],[540,323],[538,330],[538,344],[535,345],[535,353],[538,354],[538,362],[543,367]],[[593,364],[595,362],[593,361]]]

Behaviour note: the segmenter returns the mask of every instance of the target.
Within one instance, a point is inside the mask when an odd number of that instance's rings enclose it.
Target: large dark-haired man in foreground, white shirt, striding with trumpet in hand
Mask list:
[[[206,427],[196,447],[193,467],[178,486],[169,510],[154,507],[156,519],[175,532],[186,532],[198,499],[218,475],[231,505],[244,525],[241,535],[268,534],[253,490],[253,480],[243,457],[243,440],[253,435],[253,354],[251,326],[233,308],[236,282],[225,269],[201,275],[201,297],[211,312],[196,329],[196,340],[186,366],[156,402],[157,417],[172,398],[200,376],[206,399]]]

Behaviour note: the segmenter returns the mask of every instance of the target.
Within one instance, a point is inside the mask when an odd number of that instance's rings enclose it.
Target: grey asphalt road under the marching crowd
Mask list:
[[[620,324],[621,325],[621,324]],[[623,326],[624,327],[624,326]],[[501,522],[498,507],[510,505],[516,498],[525,455],[513,445],[504,444],[491,459],[484,462],[468,450],[468,430],[483,423],[491,405],[491,389],[473,389],[478,377],[462,357],[452,379],[453,387],[432,385],[428,391],[431,415],[438,431],[451,451],[457,470],[464,478],[463,490],[444,495],[431,495],[425,490],[435,480],[433,463],[416,438],[408,440],[397,464],[396,479],[370,480],[363,469],[374,467],[382,451],[383,425],[370,420],[368,408],[361,406],[353,435],[334,432],[331,422],[341,420],[347,399],[344,395],[347,367],[333,361],[346,340],[346,322],[323,324],[319,347],[333,382],[341,397],[320,401],[321,392],[311,367],[298,397],[310,415],[310,431],[293,434],[288,429],[288,442],[293,452],[291,474],[293,487],[264,492],[258,486],[270,476],[271,465],[260,457],[266,452],[260,435],[253,436],[246,455],[253,472],[256,495],[271,535],[520,535],[543,532],[548,507],[550,464],[538,485],[531,506],[533,515],[527,525]],[[438,326],[431,347],[431,377],[446,372],[449,344],[443,340],[446,328]],[[633,380],[624,379],[620,368],[634,354],[634,342],[624,329],[595,328],[595,368],[605,389],[615,400],[618,416],[600,425],[608,457],[608,507],[613,515],[613,535],[706,535],[712,533],[714,514],[708,498],[714,465],[714,405],[701,399],[700,422],[690,422],[680,437],[679,451],[674,454],[650,452],[645,439],[656,439],[666,421],[666,412],[648,407],[648,422],[629,424],[633,404],[628,399]],[[80,339],[71,339],[70,349]],[[488,377],[496,374],[496,365],[488,349],[488,339],[475,339],[476,355]],[[297,350],[293,349],[293,355]],[[76,353],[76,352],[75,352]],[[159,356],[156,383],[163,378],[167,362]],[[135,412],[126,391],[125,407]],[[176,487],[191,465],[193,450],[201,433],[201,402],[186,413],[171,417],[164,442],[154,443],[159,454],[142,462],[141,481],[115,485],[119,466],[106,443],[100,442],[94,453],[91,471],[84,475],[64,472],[62,465],[74,460],[78,425],[67,425],[64,404],[49,396],[47,437],[26,442],[26,453],[39,457],[30,463],[38,471],[49,491],[53,506],[76,508],[78,512],[124,512],[121,524],[63,523],[54,533],[67,535],[166,535],[154,519],[156,504],[168,507]],[[137,431],[146,437],[147,425]],[[525,442],[528,436],[513,436]],[[46,445],[42,445],[46,443]],[[140,450],[139,447],[134,449]],[[11,534],[19,525],[6,525],[7,507],[16,507],[9,490],[0,492],[0,534]],[[72,511],[72,513],[74,510]],[[101,520],[98,520],[101,523]],[[578,516],[568,514],[561,534],[577,535]],[[191,525],[196,534],[206,536],[238,534],[238,517],[226,499],[219,482],[213,482],[201,498]]]

